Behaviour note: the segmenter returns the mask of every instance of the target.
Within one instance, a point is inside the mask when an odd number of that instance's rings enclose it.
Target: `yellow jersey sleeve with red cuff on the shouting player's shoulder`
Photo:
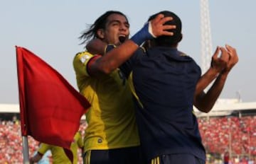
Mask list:
[[[80,52],[75,55],[73,59],[73,67],[75,69],[75,73],[80,76],[90,76],[89,73],[89,63],[95,57],[99,57],[100,55],[92,55],[89,52]]]

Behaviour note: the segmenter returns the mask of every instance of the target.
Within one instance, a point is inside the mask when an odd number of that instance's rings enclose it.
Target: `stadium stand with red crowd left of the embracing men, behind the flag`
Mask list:
[[[0,104],[0,163],[23,163],[23,146],[21,137],[21,124],[19,120],[19,105]],[[87,124],[82,117],[80,131],[84,135]],[[39,142],[28,136],[29,156],[38,149]],[[81,151],[78,150],[81,154]],[[81,155],[82,156],[82,155]],[[82,164],[82,157],[79,164]]]

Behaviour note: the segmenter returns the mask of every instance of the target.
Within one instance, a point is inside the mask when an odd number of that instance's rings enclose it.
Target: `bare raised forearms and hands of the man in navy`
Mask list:
[[[221,52],[220,57],[218,57]],[[218,47],[213,54],[212,64],[210,69],[201,76],[197,85],[194,95],[193,104],[201,112],[210,112],[218,99],[221,91],[223,90],[228,73],[238,63],[238,54],[235,48],[225,45],[224,47]],[[216,78],[216,79],[215,79]],[[210,87],[207,93],[203,90],[215,79],[213,86]]]

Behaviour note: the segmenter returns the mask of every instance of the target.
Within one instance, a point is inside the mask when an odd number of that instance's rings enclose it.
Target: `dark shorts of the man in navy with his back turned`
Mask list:
[[[149,164],[205,164],[206,162],[196,156],[187,153],[176,153],[158,156],[151,159]]]

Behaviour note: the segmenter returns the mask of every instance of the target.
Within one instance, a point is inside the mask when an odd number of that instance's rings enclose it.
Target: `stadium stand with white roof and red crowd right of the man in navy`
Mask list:
[[[256,102],[222,100],[209,113],[195,109],[203,144],[210,157],[223,159],[228,151],[233,163],[256,158]],[[208,159],[208,163],[213,162]]]

